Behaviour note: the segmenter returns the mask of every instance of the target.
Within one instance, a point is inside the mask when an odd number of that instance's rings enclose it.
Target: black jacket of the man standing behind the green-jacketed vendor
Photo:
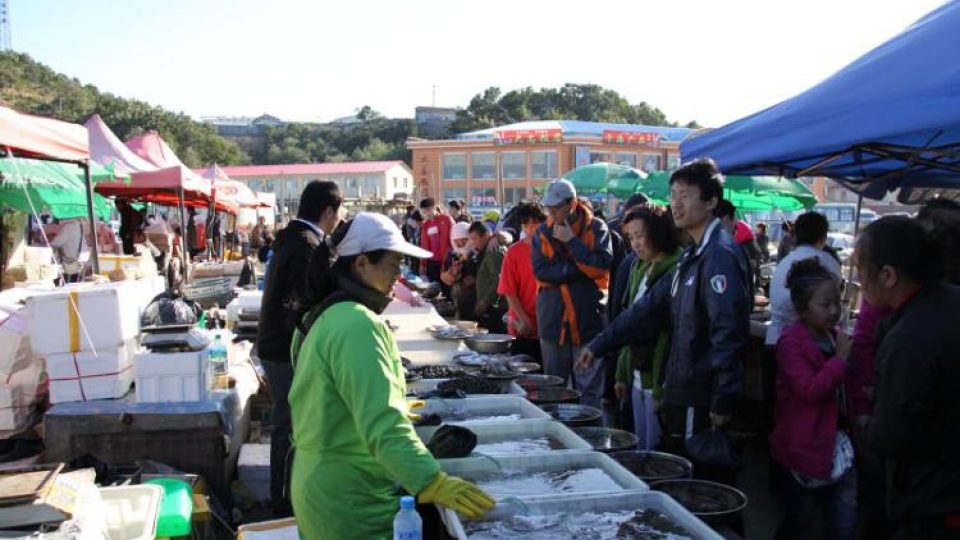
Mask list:
[[[290,341],[302,307],[307,266],[320,241],[317,231],[301,221],[291,221],[277,233],[260,303],[257,355],[262,360],[290,361]]]

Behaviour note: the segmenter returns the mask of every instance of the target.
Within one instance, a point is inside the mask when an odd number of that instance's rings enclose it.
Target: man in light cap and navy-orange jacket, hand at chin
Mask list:
[[[601,289],[606,289],[613,260],[607,225],[577,202],[568,180],[547,185],[543,197],[547,222],[533,238],[533,272],[540,285],[537,326],[543,371],[572,376],[581,401],[602,407],[603,366],[596,362],[573,372],[580,350],[603,330]]]

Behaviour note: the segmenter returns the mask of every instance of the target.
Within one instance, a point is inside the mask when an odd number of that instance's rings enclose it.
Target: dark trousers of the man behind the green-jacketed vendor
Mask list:
[[[270,434],[270,506],[274,517],[292,515],[289,496],[284,496],[287,454],[290,451],[290,385],[293,383],[293,366],[290,362],[272,362],[260,359],[267,376],[270,396],[273,398],[273,432]],[[289,490],[287,490],[289,494]]]

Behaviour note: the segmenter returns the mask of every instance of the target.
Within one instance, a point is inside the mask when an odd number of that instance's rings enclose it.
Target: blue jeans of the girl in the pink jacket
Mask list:
[[[857,469],[851,468],[834,484],[807,488],[786,467],[778,466],[781,479],[783,519],[777,540],[807,537],[813,514],[820,507],[824,539],[853,540],[857,532]]]

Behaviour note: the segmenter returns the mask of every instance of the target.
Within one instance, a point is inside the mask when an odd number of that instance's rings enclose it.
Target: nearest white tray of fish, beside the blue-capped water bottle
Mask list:
[[[440,517],[458,540],[722,539],[680,503],[653,491],[517,497],[501,501],[479,520],[467,520],[448,508],[440,508]]]

